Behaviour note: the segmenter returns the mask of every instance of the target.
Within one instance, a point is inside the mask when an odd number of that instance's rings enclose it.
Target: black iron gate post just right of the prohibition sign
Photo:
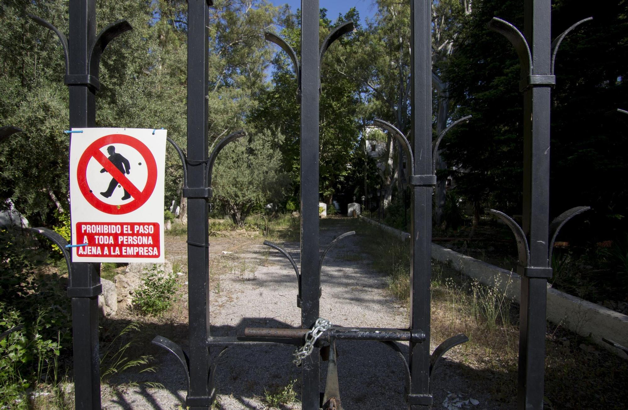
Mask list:
[[[190,386],[186,399],[192,410],[208,410],[209,391],[209,223],[208,156],[208,25],[211,0],[188,1],[188,334]]]

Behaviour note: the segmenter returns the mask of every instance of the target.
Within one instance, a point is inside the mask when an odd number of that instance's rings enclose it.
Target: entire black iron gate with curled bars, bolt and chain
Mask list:
[[[404,364],[406,401],[410,409],[431,407],[430,376],[438,359],[453,346],[467,341],[456,335],[430,354],[430,276],[431,276],[431,196],[436,184],[432,161],[431,117],[431,0],[409,0],[411,7],[411,142],[398,129],[384,121],[375,124],[398,140],[409,159],[411,186],[411,316],[407,329],[345,328],[319,318],[320,268],[325,253],[319,255],[318,234],[318,109],[320,65],[333,41],[353,29],[345,23],[319,47],[319,2],[301,1],[301,58],[275,34],[266,39],[281,46],[290,56],[298,77],[296,100],[301,105],[301,269],[290,260],[298,279],[297,306],[301,308],[301,329],[246,329],[244,335],[214,337],[209,329],[209,242],[207,201],[212,196],[212,168],[216,155],[230,141],[244,135],[236,132],[222,139],[212,154],[208,152],[208,8],[211,0],[188,1],[188,145],[186,157],[179,147],[184,170],[183,194],[188,198],[189,349],[163,337],[154,344],[174,354],[187,379],[186,404],[207,410],[215,399],[214,376],[220,354],[229,347],[259,344],[298,346],[295,363],[303,369],[302,408],[340,408],[335,344],[337,340],[384,342]],[[550,0],[525,1],[525,36],[514,26],[495,18],[489,28],[504,34],[521,60],[521,91],[524,92],[524,219],[520,228],[505,214],[494,211],[514,232],[519,246],[518,273],[521,286],[521,330],[519,350],[520,409],[543,408],[544,335],[546,282],[551,277],[551,249],[558,229],[586,207],[570,209],[551,224],[549,197],[549,112],[550,90],[556,50],[565,33],[550,41]],[[100,55],[109,41],[131,29],[126,21],[112,23],[95,34],[95,0],[70,0],[70,39],[47,21],[31,16],[38,24],[53,30],[65,53],[65,83],[70,93],[70,127],[95,126],[95,95]],[[447,129],[468,118],[461,118]],[[435,149],[443,131],[438,137]],[[420,153],[417,155],[417,153]],[[68,296],[72,298],[75,399],[77,409],[100,409],[99,345],[97,295],[101,292],[97,263],[72,263],[67,242],[45,228],[35,228],[63,250],[70,273]],[[398,342],[409,342],[409,360]],[[215,360],[210,349],[220,349]],[[321,393],[319,358],[329,360],[327,387]]]

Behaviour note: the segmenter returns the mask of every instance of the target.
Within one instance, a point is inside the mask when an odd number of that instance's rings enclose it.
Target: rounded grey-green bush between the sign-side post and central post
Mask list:
[[[283,140],[278,132],[264,130],[232,142],[220,152],[212,178],[213,199],[237,226],[244,226],[256,206],[283,201],[289,184],[280,169],[278,147]]]

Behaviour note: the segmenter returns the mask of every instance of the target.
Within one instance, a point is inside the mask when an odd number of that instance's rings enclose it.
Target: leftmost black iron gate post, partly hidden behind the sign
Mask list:
[[[132,28],[126,21],[119,20],[109,24],[97,36],[95,0],[70,0],[69,14],[68,34],[72,39],[71,45],[68,45],[65,35],[51,23],[31,14],[29,16],[35,23],[54,31],[61,41],[65,54],[63,81],[68,86],[70,95],[70,127],[95,127],[95,99],[100,88],[100,56],[112,39]],[[69,255],[67,261],[70,261]],[[75,407],[78,410],[99,410],[98,295],[102,293],[100,263],[68,263],[68,276],[68,297],[72,298]]]

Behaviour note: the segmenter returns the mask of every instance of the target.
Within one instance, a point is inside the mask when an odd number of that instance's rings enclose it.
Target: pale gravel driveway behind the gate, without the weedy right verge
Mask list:
[[[325,221],[321,226],[321,247],[355,223],[343,219]],[[210,238],[210,308],[213,335],[238,335],[244,327],[300,327],[296,307],[296,275],[290,263],[277,251],[263,246],[264,238],[232,234]],[[166,258],[178,264],[187,283],[185,236],[169,236]],[[364,238],[361,238],[364,239]],[[402,303],[387,294],[386,278],[372,270],[372,258],[360,251],[360,232],[337,243],[327,254],[322,269],[320,315],[332,323],[359,327],[407,327],[408,312]],[[299,244],[283,243],[296,263]],[[183,285],[183,284],[182,284]],[[116,320],[137,320],[122,312]],[[148,321],[148,340],[159,334],[187,345],[187,286],[181,299],[166,317]],[[441,340],[432,340],[432,350]],[[344,409],[404,409],[404,370],[396,353],[378,342],[338,342],[338,372]],[[407,344],[403,346],[408,354]],[[273,391],[295,380],[300,392],[300,369],[292,361],[291,346],[232,347],[220,358],[215,386],[219,409],[266,409],[264,391]],[[218,351],[212,352],[217,354]],[[121,376],[117,382],[137,381],[136,386],[108,390],[103,397],[106,409],[178,409],[185,403],[185,377],[181,365],[165,351],[146,345],[144,354],[156,358],[158,371]],[[474,370],[457,360],[455,349],[446,354],[433,380],[435,408],[463,402],[462,408],[507,408],[492,401],[472,377]],[[327,362],[321,366],[321,391],[325,388]],[[471,377],[470,377],[471,376]],[[163,388],[143,382],[159,382]],[[452,394],[455,394],[453,397]],[[449,397],[448,397],[449,396]],[[468,399],[479,401],[477,406]],[[465,402],[467,401],[467,402]],[[447,406],[442,405],[445,402]],[[299,409],[300,404],[281,406]]]

